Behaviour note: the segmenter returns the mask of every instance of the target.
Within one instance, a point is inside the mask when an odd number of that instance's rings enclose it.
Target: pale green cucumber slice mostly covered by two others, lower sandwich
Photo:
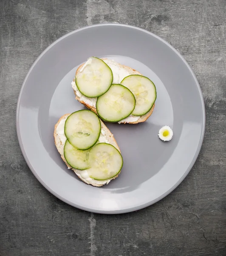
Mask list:
[[[89,169],[89,150],[79,150],[74,148],[68,140],[64,145],[64,157],[67,163],[78,170]]]

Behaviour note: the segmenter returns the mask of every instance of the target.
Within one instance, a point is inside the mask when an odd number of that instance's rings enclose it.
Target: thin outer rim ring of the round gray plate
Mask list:
[[[142,204],[142,205],[138,205],[138,206],[135,206],[135,207],[130,207],[130,208],[127,208],[127,209],[119,209],[119,210],[96,210],[96,209],[90,209],[90,208],[87,208],[87,207],[82,207],[82,206],[79,206],[77,204],[74,204],[70,201],[68,201],[67,199],[65,198],[62,198],[61,195],[57,194],[57,192],[54,192],[38,175],[38,173],[34,170],[34,168],[32,167],[28,157],[27,157],[27,154],[25,152],[25,149],[23,147],[23,142],[22,142],[22,138],[21,138],[21,135],[20,135],[20,126],[19,126],[19,112],[20,112],[20,101],[21,101],[21,96],[22,96],[22,93],[23,93],[23,88],[25,86],[25,83],[28,79],[28,76],[30,75],[31,71],[33,70],[34,66],[37,64],[37,62],[40,60],[40,58],[42,58],[42,56],[45,54],[45,52],[47,52],[49,49],[51,49],[51,47],[53,47],[55,44],[57,44],[59,41],[61,41],[62,39],[68,37],[69,35],[72,35],[76,32],[79,32],[79,31],[82,31],[82,30],[85,30],[85,29],[90,29],[90,28],[93,28],[93,27],[97,27],[97,26],[121,26],[121,27],[127,27],[127,28],[132,28],[132,29],[137,29],[137,30],[140,30],[141,32],[144,32],[144,33],[147,33],[155,38],[157,38],[158,40],[160,40],[161,42],[163,42],[164,44],[166,44],[170,49],[172,49],[180,58],[181,60],[184,62],[184,64],[186,65],[186,67],[189,69],[190,73],[192,74],[192,77],[193,79],[195,80],[195,83],[198,87],[198,92],[201,96],[201,105],[202,105],[202,112],[203,112],[203,127],[202,127],[202,130],[201,130],[201,137],[200,137],[200,140],[199,140],[199,143],[198,143],[198,147],[197,147],[197,150],[195,152],[195,156],[194,158],[192,159],[192,162],[190,163],[189,167],[187,168],[186,172],[184,173],[184,175],[178,180],[177,183],[174,184],[174,186],[172,186],[169,190],[167,190],[167,192],[165,192],[164,194],[162,194],[161,196],[159,196],[158,198],[155,198],[153,201],[149,201],[145,204]],[[23,84],[22,84],[22,87],[20,88],[20,93],[19,93],[19,96],[18,96],[18,99],[17,99],[17,108],[16,108],[16,129],[17,129],[17,138],[18,138],[18,142],[19,142],[19,145],[20,145],[20,149],[22,151],[22,154],[23,154],[23,157],[29,167],[29,169],[31,170],[31,172],[34,174],[34,176],[37,178],[37,180],[42,184],[42,186],[45,187],[45,189],[47,189],[49,192],[51,192],[51,194],[53,194],[54,196],[56,196],[57,198],[59,198],[61,201],[65,202],[66,204],[69,204],[73,207],[76,207],[78,209],[81,209],[81,210],[85,210],[85,211],[88,211],[88,212],[94,212],[94,213],[101,213],[101,214],[121,214],[121,213],[127,213],[127,212],[133,212],[133,211],[137,211],[139,209],[143,209],[145,207],[148,207],[152,204],[155,204],[156,202],[160,201],[161,199],[163,199],[164,197],[166,197],[167,195],[169,195],[169,193],[171,193],[176,187],[178,187],[181,182],[185,179],[185,177],[189,174],[190,170],[192,169],[192,166],[195,164],[195,161],[197,160],[198,158],[198,155],[199,155],[199,152],[201,150],[201,146],[203,144],[203,139],[204,139],[204,134],[205,134],[205,125],[206,125],[206,112],[205,112],[205,105],[204,105],[204,99],[203,99],[203,94],[202,94],[202,91],[201,91],[201,87],[200,87],[200,84],[198,82],[198,79],[196,78],[195,76],[195,73],[193,72],[192,68],[189,66],[189,64],[187,63],[187,61],[185,60],[185,58],[180,54],[180,52],[178,52],[178,50],[176,50],[174,47],[172,47],[172,45],[170,45],[167,41],[165,41],[164,39],[162,39],[161,37],[159,37],[158,35],[155,35],[153,34],[152,32],[150,31],[147,31],[145,29],[141,29],[139,27],[136,27],[136,26],[131,26],[131,25],[127,25],[127,24],[117,24],[117,23],[103,23],[103,24],[95,24],[95,25],[90,25],[90,26],[85,26],[85,27],[82,27],[82,28],[79,28],[79,29],[76,29],[76,30],[73,30],[65,35],[63,35],[62,37],[58,38],[56,41],[54,41],[52,44],[50,44],[47,48],[45,48],[45,50],[37,57],[37,59],[34,61],[34,63],[31,65],[27,75],[25,76],[25,79],[23,80]]]

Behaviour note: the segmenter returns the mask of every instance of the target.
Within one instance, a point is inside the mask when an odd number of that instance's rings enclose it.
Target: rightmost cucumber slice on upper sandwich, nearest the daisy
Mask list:
[[[136,99],[136,107],[132,112],[134,116],[145,115],[155,103],[155,84],[146,76],[130,75],[125,77],[121,84],[130,89]]]

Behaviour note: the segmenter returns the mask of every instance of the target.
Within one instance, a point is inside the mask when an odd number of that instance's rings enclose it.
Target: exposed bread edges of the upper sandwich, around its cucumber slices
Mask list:
[[[105,60],[105,58],[102,58],[102,60]],[[84,64],[85,64],[85,63],[84,63]],[[83,67],[84,64],[82,64],[82,65],[80,65],[80,66],[78,67],[78,69],[76,70],[76,75],[79,73],[79,71],[81,70],[81,68]],[[132,69],[131,67],[127,67],[127,66],[121,65],[121,64],[119,64],[119,63],[118,63],[118,66],[121,67],[121,68],[123,68],[124,70],[126,70],[130,75],[141,75],[141,73],[139,73],[138,71]],[[73,82],[75,82],[75,79],[73,79]],[[80,97],[78,96],[78,93],[76,93],[76,90],[74,90],[74,93],[75,93],[75,99],[76,99],[76,100],[78,100],[78,101],[81,102],[83,105],[85,105],[87,108],[91,109],[94,113],[97,114],[96,107],[91,106],[91,105],[89,105],[88,103],[84,102],[82,99],[80,99]],[[155,104],[154,104],[153,107],[150,109],[150,111],[148,111],[148,112],[147,112],[145,115],[143,115],[143,116],[139,116],[138,120],[136,120],[135,122],[126,122],[126,121],[125,121],[125,122],[123,122],[123,121],[121,122],[121,121],[120,121],[120,123],[124,123],[124,124],[125,124],[125,123],[137,124],[137,123],[139,123],[139,122],[144,122],[144,121],[146,121],[146,120],[148,119],[148,117],[152,114],[154,107],[155,107]]]

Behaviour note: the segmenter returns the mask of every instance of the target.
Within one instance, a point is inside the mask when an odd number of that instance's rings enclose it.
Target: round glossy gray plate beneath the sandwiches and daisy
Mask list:
[[[147,122],[107,124],[124,158],[107,186],[83,183],[54,145],[59,117],[83,109],[71,81],[90,56],[107,57],[138,70],[156,85],[157,100]],[[169,143],[158,139],[163,125]],[[26,76],[17,105],[17,134],[28,166],[62,201],[99,213],[131,212],[154,204],[186,177],[201,148],[205,126],[202,93],[189,65],[167,42],[132,26],[101,24],[73,31],[51,44]]]

